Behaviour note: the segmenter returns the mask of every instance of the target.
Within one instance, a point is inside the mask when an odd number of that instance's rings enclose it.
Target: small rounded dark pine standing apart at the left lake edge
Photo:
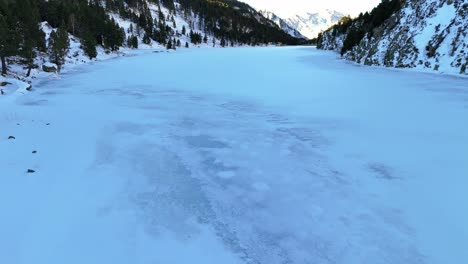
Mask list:
[[[49,54],[52,62],[57,64],[60,71],[62,65],[65,63],[65,56],[70,48],[70,40],[68,39],[68,32],[65,23],[50,34],[49,40]]]

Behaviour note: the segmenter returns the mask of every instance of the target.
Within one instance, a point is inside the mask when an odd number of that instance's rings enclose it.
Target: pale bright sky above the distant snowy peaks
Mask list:
[[[381,0],[241,0],[255,8],[273,11],[279,16],[315,12],[324,9],[337,10],[345,14],[358,15],[371,10]]]

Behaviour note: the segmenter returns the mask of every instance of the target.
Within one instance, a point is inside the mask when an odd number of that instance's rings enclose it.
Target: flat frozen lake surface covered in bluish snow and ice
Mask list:
[[[0,263],[468,263],[468,79],[335,56],[143,51],[0,97]]]

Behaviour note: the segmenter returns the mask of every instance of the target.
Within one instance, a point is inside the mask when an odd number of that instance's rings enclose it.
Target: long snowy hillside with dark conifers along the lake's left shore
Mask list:
[[[0,0],[1,72],[63,65],[70,48],[95,58],[99,50],[160,45],[297,44],[273,22],[235,0]]]

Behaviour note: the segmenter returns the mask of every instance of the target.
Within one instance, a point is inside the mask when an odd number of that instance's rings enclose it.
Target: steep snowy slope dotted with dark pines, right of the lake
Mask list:
[[[318,48],[341,51],[365,65],[432,69],[468,74],[468,3],[465,0],[389,1],[382,23],[377,13],[336,25],[319,37]],[[382,4],[381,4],[382,5]],[[378,6],[385,10],[387,7]]]

